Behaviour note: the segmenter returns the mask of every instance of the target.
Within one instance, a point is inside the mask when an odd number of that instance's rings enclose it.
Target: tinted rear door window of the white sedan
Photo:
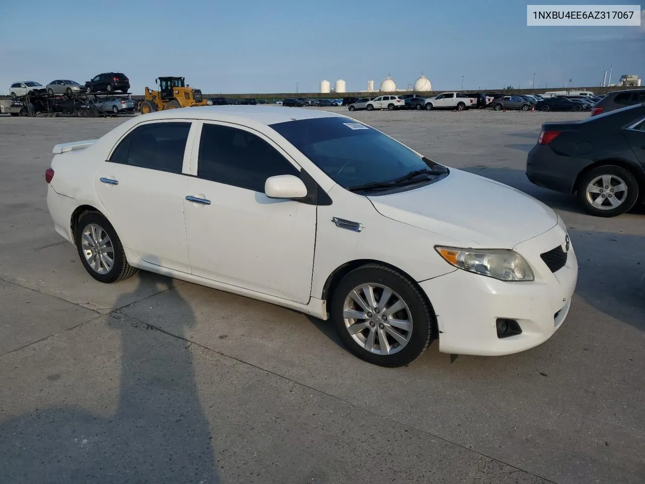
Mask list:
[[[181,174],[190,123],[149,123],[135,128],[108,161]]]

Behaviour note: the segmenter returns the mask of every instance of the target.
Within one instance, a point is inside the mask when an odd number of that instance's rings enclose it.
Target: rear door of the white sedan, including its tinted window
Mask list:
[[[183,174],[191,121],[149,121],[121,139],[94,187],[123,246],[143,261],[190,274]],[[186,161],[186,167],[189,161]]]

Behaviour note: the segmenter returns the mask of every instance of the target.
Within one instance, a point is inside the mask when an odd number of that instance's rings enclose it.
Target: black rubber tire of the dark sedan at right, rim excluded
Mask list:
[[[622,199],[622,203],[620,203],[618,207],[602,209],[594,207],[592,205],[595,199],[593,199],[593,196],[591,195],[588,196],[587,187],[588,185],[590,185],[593,179],[600,176],[617,177],[622,181],[622,183],[624,183],[624,185],[626,185],[627,194],[624,195],[624,199]],[[602,187],[601,189],[607,190],[604,187]],[[622,166],[604,165],[593,168],[593,170],[589,170],[583,176],[581,176],[580,180],[578,181],[576,190],[578,202],[582,205],[582,208],[584,208],[584,210],[586,210],[586,212],[588,212],[589,214],[595,215],[597,217],[615,217],[617,215],[624,214],[625,212],[630,210],[639,199],[639,182],[630,171],[622,168]],[[619,194],[624,194],[624,192],[611,192],[611,190],[613,190],[613,188],[611,187],[608,190],[610,190],[610,192],[603,192],[599,195],[599,197],[602,197],[602,195],[606,194],[606,197],[602,198],[606,198],[607,201],[609,201],[609,198],[612,196],[620,199]],[[617,197],[617,195],[619,196]],[[606,207],[607,202],[602,201],[602,205],[603,207]]]

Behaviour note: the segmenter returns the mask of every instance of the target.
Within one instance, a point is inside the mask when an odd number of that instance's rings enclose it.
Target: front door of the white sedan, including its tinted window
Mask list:
[[[184,220],[192,273],[306,304],[311,294],[315,205],[270,199],[270,176],[301,172],[268,137],[203,122]],[[194,166],[194,165],[193,165]]]

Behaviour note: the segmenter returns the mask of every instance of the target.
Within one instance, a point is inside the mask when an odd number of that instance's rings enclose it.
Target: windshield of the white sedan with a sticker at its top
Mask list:
[[[410,148],[348,117],[301,119],[271,127],[344,188],[435,168]]]

